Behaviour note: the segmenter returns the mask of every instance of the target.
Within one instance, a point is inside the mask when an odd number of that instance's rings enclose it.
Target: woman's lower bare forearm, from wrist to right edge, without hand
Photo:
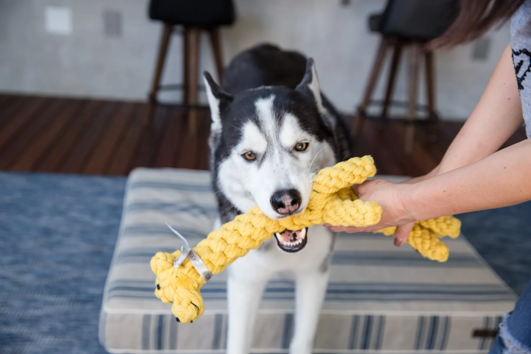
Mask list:
[[[402,190],[400,199],[413,220],[501,208],[531,200],[531,140],[493,153]]]

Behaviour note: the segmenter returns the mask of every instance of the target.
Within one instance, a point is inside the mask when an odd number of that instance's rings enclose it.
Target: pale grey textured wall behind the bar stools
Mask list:
[[[315,58],[324,92],[341,110],[352,113],[378,43],[367,31],[366,17],[383,3],[237,0],[238,22],[222,31],[225,60],[260,41],[302,50]],[[48,5],[71,9],[70,36],[45,31]],[[160,24],[150,22],[146,10],[147,0],[0,0],[0,91],[145,99],[160,35]],[[121,14],[118,36],[106,36],[105,11]],[[437,101],[445,118],[465,119],[472,111],[508,42],[507,25],[488,38],[491,46],[484,60],[473,59],[474,44],[437,53]],[[174,36],[167,83],[181,81],[181,44]],[[201,70],[212,71],[206,37],[201,51]],[[395,90],[398,98],[405,97],[404,68]],[[161,98],[177,97],[165,93]]]

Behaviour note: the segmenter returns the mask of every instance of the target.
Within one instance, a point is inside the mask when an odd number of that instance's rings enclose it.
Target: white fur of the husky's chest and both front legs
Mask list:
[[[289,352],[312,352],[329,275],[319,267],[329,253],[332,235],[323,226],[313,226],[308,237],[306,247],[297,253],[282,251],[273,240],[271,251],[250,251],[229,266],[227,354],[249,354],[265,284],[273,275],[286,272],[296,281],[295,332]]]

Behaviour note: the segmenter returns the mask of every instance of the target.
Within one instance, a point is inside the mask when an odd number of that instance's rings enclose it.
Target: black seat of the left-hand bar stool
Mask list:
[[[152,0],[149,18],[174,25],[214,27],[236,20],[232,0]]]

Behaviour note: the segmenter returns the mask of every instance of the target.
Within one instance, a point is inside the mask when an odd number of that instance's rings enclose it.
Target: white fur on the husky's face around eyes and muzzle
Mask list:
[[[271,195],[279,189],[295,188],[301,192],[303,210],[310,198],[313,173],[333,165],[335,159],[331,146],[306,133],[292,114],[285,113],[279,126],[273,100],[271,96],[255,102],[262,131],[251,120],[242,127],[243,140],[220,163],[218,180],[221,191],[239,210],[258,205],[268,217],[278,219],[282,215],[271,207]],[[308,148],[294,151],[301,141],[307,142]],[[246,151],[253,151],[257,161],[242,158]]]

